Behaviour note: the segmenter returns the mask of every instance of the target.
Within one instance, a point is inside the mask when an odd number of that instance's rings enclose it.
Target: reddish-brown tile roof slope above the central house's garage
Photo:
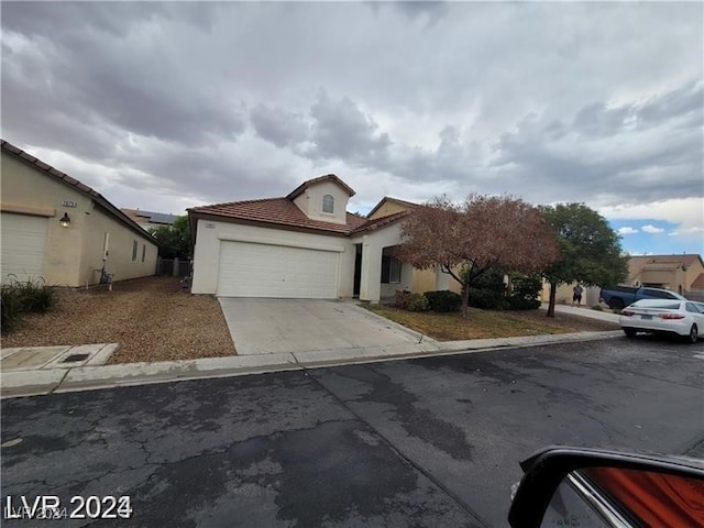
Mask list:
[[[289,195],[290,196],[290,195]],[[191,207],[188,212],[250,220],[255,222],[290,226],[348,234],[367,222],[364,217],[348,212],[346,223],[331,223],[312,220],[289,198],[264,198],[260,200],[232,201],[212,206]]]

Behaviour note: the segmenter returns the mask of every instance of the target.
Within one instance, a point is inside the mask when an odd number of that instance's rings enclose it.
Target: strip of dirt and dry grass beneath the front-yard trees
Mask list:
[[[554,318],[548,318],[542,309],[491,311],[470,308],[468,317],[462,318],[459,314],[414,312],[388,306],[367,308],[439,341],[607,331],[619,328],[615,322],[560,312],[556,312]]]

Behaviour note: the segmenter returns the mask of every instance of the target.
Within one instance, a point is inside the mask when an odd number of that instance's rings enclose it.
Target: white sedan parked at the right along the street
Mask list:
[[[679,299],[640,299],[620,312],[620,328],[629,338],[637,332],[675,333],[695,343],[704,337],[704,304]]]

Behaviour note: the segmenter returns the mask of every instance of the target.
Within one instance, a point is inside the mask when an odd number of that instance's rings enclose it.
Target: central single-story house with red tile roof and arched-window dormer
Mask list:
[[[346,211],[352,190],[329,174],[285,197],[188,209],[194,294],[376,302],[396,290],[449,289],[439,268],[414,270],[393,256],[414,204],[384,198],[362,217]],[[452,286],[459,289],[459,284]]]

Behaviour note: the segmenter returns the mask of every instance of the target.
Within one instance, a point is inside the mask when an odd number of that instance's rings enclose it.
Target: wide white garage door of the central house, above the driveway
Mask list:
[[[222,242],[218,295],[332,299],[339,253],[282,245]]]

